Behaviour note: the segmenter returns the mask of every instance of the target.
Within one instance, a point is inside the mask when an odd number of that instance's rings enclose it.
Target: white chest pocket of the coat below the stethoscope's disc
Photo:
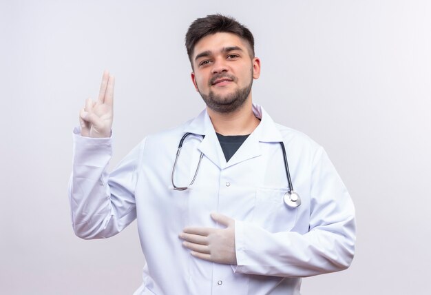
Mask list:
[[[289,207],[283,201],[287,190],[260,188],[256,190],[253,223],[269,232],[290,231],[297,221],[299,207]]]

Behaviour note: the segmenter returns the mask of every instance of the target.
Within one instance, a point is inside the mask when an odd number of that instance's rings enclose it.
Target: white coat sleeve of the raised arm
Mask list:
[[[85,239],[114,236],[136,218],[135,187],[145,140],[111,174],[112,138],[92,139],[74,130],[69,182],[72,227]]]

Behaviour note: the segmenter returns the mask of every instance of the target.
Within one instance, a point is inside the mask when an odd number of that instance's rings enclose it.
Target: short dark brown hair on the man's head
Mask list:
[[[189,30],[187,30],[185,41],[187,54],[189,55],[189,60],[192,66],[193,62],[191,61],[191,56],[193,55],[193,50],[196,43],[198,43],[198,41],[203,37],[218,32],[232,33],[247,41],[251,49],[250,54],[252,57],[254,57],[255,41],[250,30],[241,23],[238,23],[238,21],[236,21],[233,17],[226,17],[222,14],[211,14],[207,15],[207,17],[196,19],[193,21],[193,23],[191,23]]]

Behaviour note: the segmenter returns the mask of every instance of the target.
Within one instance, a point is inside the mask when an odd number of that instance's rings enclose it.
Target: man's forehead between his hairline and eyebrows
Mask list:
[[[233,46],[238,46],[239,48],[242,48],[244,52],[249,52],[249,45],[247,41],[235,34],[228,32],[209,34],[196,43],[195,47],[193,48],[193,59],[196,57],[196,55],[200,54],[200,52],[221,52],[223,48]]]

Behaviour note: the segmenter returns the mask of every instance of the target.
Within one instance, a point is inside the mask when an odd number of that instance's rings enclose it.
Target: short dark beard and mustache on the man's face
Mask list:
[[[251,69],[251,72],[253,74],[253,68]],[[232,81],[237,80],[233,76],[222,74],[217,77],[213,77],[209,85],[210,86],[212,85],[212,81],[215,81],[216,79],[220,79],[223,77],[227,77]],[[253,85],[253,75],[251,76],[249,85],[246,85],[246,87],[244,88],[237,89],[233,93],[222,96],[222,95],[215,94],[213,90],[210,90],[209,94],[204,94],[200,91],[199,91],[199,94],[200,96],[202,96],[202,99],[207,104],[207,107],[213,110],[214,112],[230,113],[240,109],[242,105],[244,105],[247,98],[249,97],[252,85]]]

